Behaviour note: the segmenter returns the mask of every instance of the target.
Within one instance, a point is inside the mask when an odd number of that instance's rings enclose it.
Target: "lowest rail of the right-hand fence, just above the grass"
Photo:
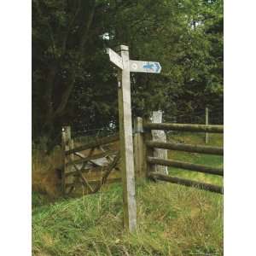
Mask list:
[[[180,178],[180,177],[172,177],[172,176],[160,174],[159,172],[149,172],[148,177],[151,177],[153,179],[159,179],[159,180],[166,181],[169,183],[177,183],[177,184],[184,185],[187,187],[195,187],[196,189],[203,189],[203,190],[207,190],[210,192],[223,194],[223,187],[220,187],[217,185],[212,185],[209,183],[200,183],[200,182],[196,182],[194,180],[184,179],[184,178]]]

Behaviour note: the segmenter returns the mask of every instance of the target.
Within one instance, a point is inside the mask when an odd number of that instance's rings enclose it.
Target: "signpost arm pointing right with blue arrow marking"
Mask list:
[[[131,72],[160,73],[161,66],[159,62],[154,61],[132,61],[130,60]]]

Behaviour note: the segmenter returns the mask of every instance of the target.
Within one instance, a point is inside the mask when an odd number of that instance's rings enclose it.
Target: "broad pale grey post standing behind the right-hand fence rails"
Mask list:
[[[161,123],[162,122],[162,111],[153,111],[152,114],[152,123]],[[166,143],[166,132],[162,130],[152,130],[153,140],[158,142]],[[160,159],[167,159],[167,150],[162,148],[154,148],[154,156]],[[154,172],[160,172],[162,174],[168,174],[167,166],[158,166],[154,165]]]

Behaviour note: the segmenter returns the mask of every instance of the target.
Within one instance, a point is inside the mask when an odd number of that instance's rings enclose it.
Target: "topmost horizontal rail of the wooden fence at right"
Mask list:
[[[144,123],[143,128],[147,130],[167,130],[167,131],[201,131],[212,133],[223,133],[223,125],[187,125],[172,123]]]

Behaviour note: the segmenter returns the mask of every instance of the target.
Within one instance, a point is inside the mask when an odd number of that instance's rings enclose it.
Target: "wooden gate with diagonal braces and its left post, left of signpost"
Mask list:
[[[120,181],[118,141],[119,135],[113,135],[91,143],[74,143],[70,126],[63,127],[62,193],[69,195],[81,188],[86,194],[96,193],[104,183]]]

